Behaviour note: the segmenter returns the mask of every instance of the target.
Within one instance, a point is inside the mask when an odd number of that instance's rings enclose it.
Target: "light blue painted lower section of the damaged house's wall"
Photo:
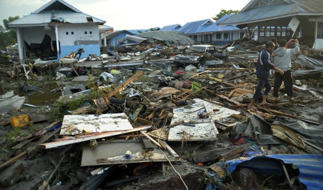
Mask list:
[[[84,53],[82,53],[80,58],[89,57],[89,54],[96,54],[100,56],[100,44],[89,44],[89,45],[74,45],[74,46],[60,46],[59,58],[64,58],[68,56],[72,51],[77,53],[78,48],[83,48]],[[78,58],[78,55],[77,55]]]

